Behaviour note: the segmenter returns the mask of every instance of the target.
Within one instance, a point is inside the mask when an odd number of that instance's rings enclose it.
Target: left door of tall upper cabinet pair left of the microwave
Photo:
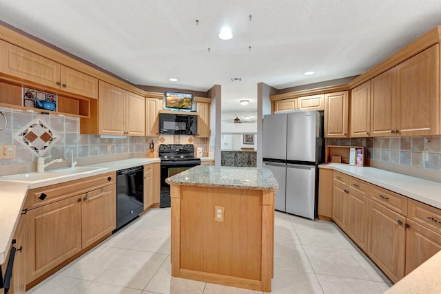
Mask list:
[[[99,81],[99,134],[125,135],[125,90]]]

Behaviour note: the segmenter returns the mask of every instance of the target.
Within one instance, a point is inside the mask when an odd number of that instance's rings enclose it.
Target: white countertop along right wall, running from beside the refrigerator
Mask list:
[[[365,180],[373,185],[441,209],[441,182],[406,176],[375,167],[357,167],[334,163],[326,163],[318,167],[340,171],[343,174]]]

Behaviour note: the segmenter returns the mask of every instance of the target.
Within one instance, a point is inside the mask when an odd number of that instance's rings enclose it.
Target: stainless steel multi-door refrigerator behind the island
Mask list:
[[[280,185],[276,209],[314,220],[317,216],[318,167],[324,158],[320,112],[263,116],[263,166]]]

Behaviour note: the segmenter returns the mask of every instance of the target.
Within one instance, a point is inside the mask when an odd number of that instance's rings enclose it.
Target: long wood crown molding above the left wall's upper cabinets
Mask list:
[[[144,90],[141,90],[138,87],[131,85],[130,83],[126,83],[125,81],[122,81],[122,79],[110,76],[109,74],[106,74],[101,70],[98,70],[79,60],[76,60],[73,57],[67,56],[58,50],[49,48],[48,46],[43,45],[38,41],[30,39],[28,36],[24,36],[23,34],[3,27],[2,25],[0,25],[0,39],[30,52],[34,52],[35,54],[39,54],[47,59],[50,59],[67,67],[71,67],[72,69],[83,72],[84,74],[99,78],[101,81],[105,81],[117,87],[121,87],[124,90],[133,92],[135,94],[145,96],[146,92]]]

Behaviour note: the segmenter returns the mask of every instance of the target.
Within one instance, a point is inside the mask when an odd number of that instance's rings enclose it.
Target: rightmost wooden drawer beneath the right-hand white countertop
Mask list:
[[[441,210],[436,207],[409,199],[407,208],[407,216],[411,220],[419,222],[424,227],[433,229],[437,233],[441,233]]]

